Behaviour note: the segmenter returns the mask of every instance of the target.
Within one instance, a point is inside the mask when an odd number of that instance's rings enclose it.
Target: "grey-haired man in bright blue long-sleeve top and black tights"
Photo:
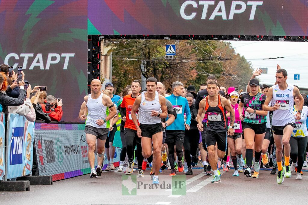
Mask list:
[[[170,176],[175,176],[174,145],[176,149],[176,156],[178,158],[178,171],[182,172],[184,170],[184,166],[182,164],[182,146],[185,137],[185,129],[189,130],[190,128],[191,113],[187,99],[181,96],[185,92],[183,83],[179,81],[172,83],[172,91],[172,95],[166,97],[166,99],[172,103],[173,108],[176,108],[177,118],[174,123],[167,126],[167,138],[165,143],[168,144],[169,149],[168,158],[171,167]],[[186,114],[186,123],[184,122],[184,113]]]

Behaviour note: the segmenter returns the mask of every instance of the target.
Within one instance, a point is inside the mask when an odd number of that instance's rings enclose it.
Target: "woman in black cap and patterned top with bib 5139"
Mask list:
[[[242,123],[246,142],[246,164],[244,171],[246,177],[251,177],[251,167],[253,161],[253,149],[255,153],[253,178],[259,177],[260,157],[262,143],[266,132],[267,111],[262,109],[265,102],[265,95],[259,92],[260,84],[257,79],[249,81],[250,92],[243,94],[239,104],[238,112],[243,116],[245,108],[245,117]]]

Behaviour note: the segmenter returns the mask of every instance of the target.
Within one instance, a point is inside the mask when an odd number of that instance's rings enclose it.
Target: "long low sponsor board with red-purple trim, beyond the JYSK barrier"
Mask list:
[[[85,124],[35,122],[35,175],[52,175],[53,181],[89,174]],[[114,165],[120,164],[121,148],[116,147]],[[35,157],[35,156],[34,156]],[[106,169],[106,159],[103,170]],[[95,157],[95,166],[97,159]]]

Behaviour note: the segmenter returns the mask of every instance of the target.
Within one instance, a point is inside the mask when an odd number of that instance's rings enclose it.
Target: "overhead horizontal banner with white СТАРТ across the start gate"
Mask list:
[[[307,36],[307,1],[89,0],[88,34]]]

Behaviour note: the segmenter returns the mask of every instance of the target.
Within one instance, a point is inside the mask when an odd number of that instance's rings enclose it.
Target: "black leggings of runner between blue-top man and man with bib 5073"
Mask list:
[[[186,130],[184,137],[184,151],[185,151],[185,160],[187,166],[191,168],[191,158],[190,155],[196,156],[197,148],[200,140],[200,134],[198,129]]]

